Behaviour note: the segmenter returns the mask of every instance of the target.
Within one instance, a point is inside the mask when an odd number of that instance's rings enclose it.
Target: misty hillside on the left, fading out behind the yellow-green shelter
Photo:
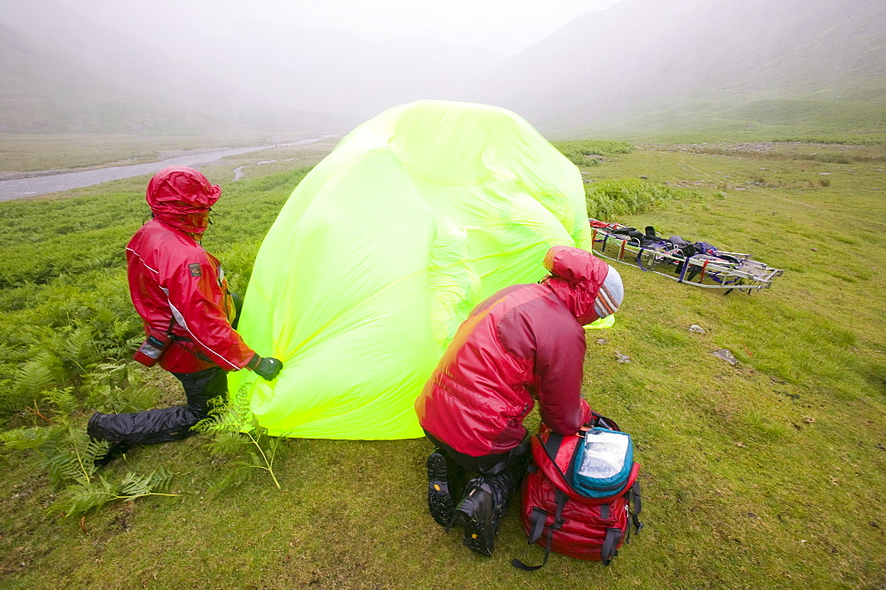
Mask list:
[[[55,0],[15,9],[0,13],[0,130],[14,133],[343,133],[392,105],[462,98],[452,82],[500,58],[431,40],[374,43],[248,21],[233,35],[204,31],[182,51]]]

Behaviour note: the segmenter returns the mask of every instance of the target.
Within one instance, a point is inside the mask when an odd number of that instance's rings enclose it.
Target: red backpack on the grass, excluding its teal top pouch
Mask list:
[[[594,415],[595,426],[620,431],[612,420]],[[583,440],[584,431],[563,436],[544,425],[532,437],[532,463],[523,482],[523,527],[530,545],[545,547],[545,557],[534,566],[515,559],[514,567],[538,570],[551,551],[609,565],[618,547],[629,542],[631,525],[640,532],[640,465],[631,465],[625,485],[610,496],[582,495],[572,486],[572,474]]]

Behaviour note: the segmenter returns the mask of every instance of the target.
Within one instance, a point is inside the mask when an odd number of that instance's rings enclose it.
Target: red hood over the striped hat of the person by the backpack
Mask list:
[[[610,266],[591,252],[569,246],[553,246],[545,256],[544,265],[552,276],[546,277],[542,284],[548,285],[563,300],[575,319],[582,325],[598,319],[594,301]]]

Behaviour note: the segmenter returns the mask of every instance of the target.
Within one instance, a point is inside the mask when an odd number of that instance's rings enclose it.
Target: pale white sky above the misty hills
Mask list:
[[[581,14],[618,0],[62,0],[116,27],[150,27],[159,33],[184,22],[195,36],[207,27],[230,30],[245,23],[291,23],[346,29],[373,41],[421,36],[516,53]]]

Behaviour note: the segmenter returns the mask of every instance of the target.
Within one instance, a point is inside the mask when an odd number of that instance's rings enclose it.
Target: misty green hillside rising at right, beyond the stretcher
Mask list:
[[[882,0],[623,0],[511,58],[490,96],[564,136],[847,109],[883,132],[884,50]]]

